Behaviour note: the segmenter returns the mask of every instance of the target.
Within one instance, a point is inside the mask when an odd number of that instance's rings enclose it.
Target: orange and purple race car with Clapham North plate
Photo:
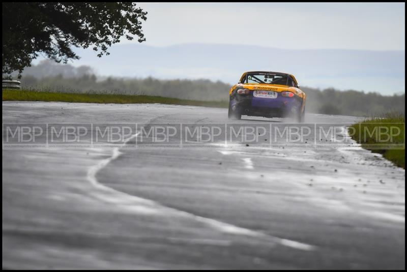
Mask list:
[[[262,117],[293,116],[304,121],[305,93],[293,75],[277,72],[246,72],[229,91],[230,119],[242,115]]]

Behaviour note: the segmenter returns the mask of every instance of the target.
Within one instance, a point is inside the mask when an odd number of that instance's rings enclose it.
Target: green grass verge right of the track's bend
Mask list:
[[[351,137],[363,148],[380,153],[397,166],[405,168],[404,120],[403,114],[388,114],[384,118],[370,118],[356,123],[350,127],[349,131]],[[387,133],[387,129],[389,129],[388,131],[393,129],[394,133]],[[377,133],[371,133],[373,131],[377,131]],[[401,131],[401,133],[396,135],[397,131]],[[387,139],[387,135],[394,135],[394,137]]]

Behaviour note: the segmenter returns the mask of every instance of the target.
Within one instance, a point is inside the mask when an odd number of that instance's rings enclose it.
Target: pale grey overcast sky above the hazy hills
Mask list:
[[[405,50],[404,3],[139,3],[146,45]]]

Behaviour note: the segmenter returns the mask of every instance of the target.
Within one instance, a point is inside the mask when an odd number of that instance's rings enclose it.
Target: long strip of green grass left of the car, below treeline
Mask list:
[[[149,95],[63,93],[35,90],[3,89],[3,101],[58,101],[72,103],[141,104],[161,103],[202,107],[227,108],[227,101],[199,101]]]

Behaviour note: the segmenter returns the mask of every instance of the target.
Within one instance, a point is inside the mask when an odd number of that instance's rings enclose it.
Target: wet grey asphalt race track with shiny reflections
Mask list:
[[[12,122],[230,123],[225,109],[3,102]],[[127,148],[137,137],[4,149],[3,268],[405,268],[405,172],[380,155],[327,140]]]

